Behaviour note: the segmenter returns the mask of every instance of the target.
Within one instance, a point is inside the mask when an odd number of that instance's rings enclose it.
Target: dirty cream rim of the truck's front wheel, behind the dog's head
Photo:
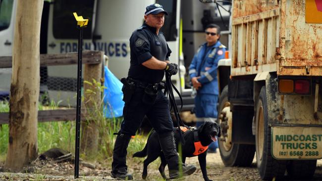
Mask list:
[[[219,124],[221,127],[220,142],[225,151],[229,151],[232,147],[232,113],[230,112],[230,102],[225,102],[219,116]]]

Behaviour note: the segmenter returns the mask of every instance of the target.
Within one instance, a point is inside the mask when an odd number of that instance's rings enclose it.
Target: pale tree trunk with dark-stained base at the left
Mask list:
[[[18,0],[12,51],[9,144],[5,168],[20,171],[37,158],[40,23],[44,0]]]

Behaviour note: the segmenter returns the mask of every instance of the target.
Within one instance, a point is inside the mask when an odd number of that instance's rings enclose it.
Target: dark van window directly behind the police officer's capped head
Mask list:
[[[178,36],[176,27],[176,15],[177,15],[177,0],[157,0],[157,3],[163,6],[163,9],[168,12],[168,16],[164,18],[164,25],[161,31],[164,34],[166,41],[175,41]]]

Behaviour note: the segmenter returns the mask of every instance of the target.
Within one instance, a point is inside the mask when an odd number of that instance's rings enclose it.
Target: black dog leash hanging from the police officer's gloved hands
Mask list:
[[[181,124],[181,126],[186,127],[186,128],[188,128],[188,129],[189,129],[189,127],[183,123],[183,121],[181,120],[180,114],[179,114],[179,113],[181,112],[181,110],[182,110],[182,105],[183,105],[183,103],[182,103],[182,97],[181,97],[180,92],[179,92],[179,91],[175,88],[175,86],[173,85],[173,83],[172,83],[172,81],[171,81],[171,75],[170,75],[170,74],[168,74],[168,73],[165,73],[165,85],[166,85],[166,86],[165,86],[165,90],[164,90],[164,92],[165,92],[165,94],[167,93],[167,94],[168,94],[168,96],[169,96],[170,105],[171,105],[170,110],[172,110],[172,108],[173,108],[174,116],[175,116],[175,119],[177,120],[177,127],[178,127],[178,129],[179,129],[179,133],[180,133],[179,135],[180,135],[181,143],[182,143],[182,145],[185,145],[185,143],[186,143],[186,142],[185,142],[185,140],[184,140],[184,138],[183,138],[183,135],[182,135],[182,133],[181,133],[181,131],[180,131],[180,124]],[[180,108],[180,111],[178,110],[177,104],[176,104],[176,102],[175,102],[172,88],[173,88],[173,89],[177,92],[177,94],[179,95],[179,98],[180,98],[180,101],[181,101],[181,108]]]

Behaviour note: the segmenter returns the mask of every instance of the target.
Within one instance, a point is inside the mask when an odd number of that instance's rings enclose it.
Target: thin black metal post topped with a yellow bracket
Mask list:
[[[76,137],[75,137],[75,170],[74,178],[79,176],[79,146],[80,146],[80,121],[81,121],[81,89],[82,89],[82,54],[83,54],[83,28],[88,24],[88,19],[83,19],[82,16],[77,16],[73,13],[77,21],[77,28],[79,29],[78,37],[78,63],[77,63],[77,102],[76,102]]]

